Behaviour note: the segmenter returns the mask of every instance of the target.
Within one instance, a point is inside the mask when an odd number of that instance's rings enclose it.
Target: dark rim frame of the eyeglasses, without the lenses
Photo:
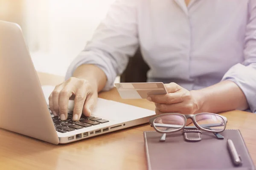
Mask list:
[[[202,127],[200,127],[198,125],[198,123],[196,122],[195,118],[196,116],[200,115],[200,114],[210,114],[210,115],[215,115],[215,116],[220,116],[223,120],[224,120],[224,129],[221,130],[221,131],[217,131],[217,130],[206,130]],[[177,130],[172,130],[170,132],[163,132],[163,131],[160,131],[158,130],[155,125],[154,125],[154,120],[157,119],[158,117],[162,117],[164,115],[179,115],[179,116],[182,116],[184,118],[184,125],[181,127],[181,128],[178,128]],[[186,126],[186,122],[187,122],[187,119],[192,119],[192,123],[195,125],[195,126]],[[149,124],[151,127],[154,127],[154,129],[158,132],[158,133],[173,133],[173,132],[177,132],[177,131],[181,131],[183,129],[199,129],[199,130],[203,130],[203,131],[207,131],[207,132],[212,132],[212,133],[221,133],[223,132],[225,129],[226,129],[226,126],[227,126],[227,118],[225,116],[222,116],[222,115],[219,115],[219,114],[215,114],[215,113],[207,113],[207,112],[203,112],[203,113],[197,113],[197,114],[180,114],[180,113],[163,113],[163,114],[160,114],[158,116],[154,116],[154,117],[151,117],[149,119]],[[196,128],[195,128],[196,127]]]

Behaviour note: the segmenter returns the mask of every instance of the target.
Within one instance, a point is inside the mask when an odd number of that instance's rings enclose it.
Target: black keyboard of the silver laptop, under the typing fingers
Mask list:
[[[59,116],[54,116],[51,111],[50,111],[50,114],[52,116],[52,121],[54,122],[56,131],[61,133],[66,133],[73,130],[82,129],[82,128],[109,122],[108,120],[101,119],[99,117],[94,117],[94,116],[86,117],[84,115],[81,116],[81,119],[79,119],[79,121],[73,121],[73,113],[68,113],[67,120],[62,121]]]

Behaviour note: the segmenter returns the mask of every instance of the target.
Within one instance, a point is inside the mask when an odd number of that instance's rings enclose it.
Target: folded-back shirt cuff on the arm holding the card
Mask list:
[[[221,79],[221,81],[224,80],[230,80],[241,88],[250,111],[256,113],[256,69],[250,65],[236,64]]]

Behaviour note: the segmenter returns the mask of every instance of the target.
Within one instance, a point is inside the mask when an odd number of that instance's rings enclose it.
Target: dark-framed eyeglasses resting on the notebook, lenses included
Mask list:
[[[192,119],[192,123],[185,126],[187,119]],[[227,118],[215,113],[198,113],[198,114],[180,114],[180,113],[164,113],[149,119],[151,127],[163,133],[160,141],[165,141],[166,133],[173,133],[180,130],[201,130],[212,132],[218,139],[224,139],[219,134],[223,132],[227,125]],[[194,125],[192,125],[194,124]]]

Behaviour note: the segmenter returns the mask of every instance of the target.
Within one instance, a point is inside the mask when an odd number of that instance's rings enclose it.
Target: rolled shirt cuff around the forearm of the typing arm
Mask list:
[[[104,54],[103,54],[104,55]],[[114,80],[116,78],[116,72],[114,71],[111,61],[107,57],[102,57],[98,53],[93,51],[82,51],[78,57],[76,57],[67,69],[65,80],[73,76],[74,71],[83,64],[96,65],[106,74],[107,82],[102,91],[109,91],[114,87]]]

